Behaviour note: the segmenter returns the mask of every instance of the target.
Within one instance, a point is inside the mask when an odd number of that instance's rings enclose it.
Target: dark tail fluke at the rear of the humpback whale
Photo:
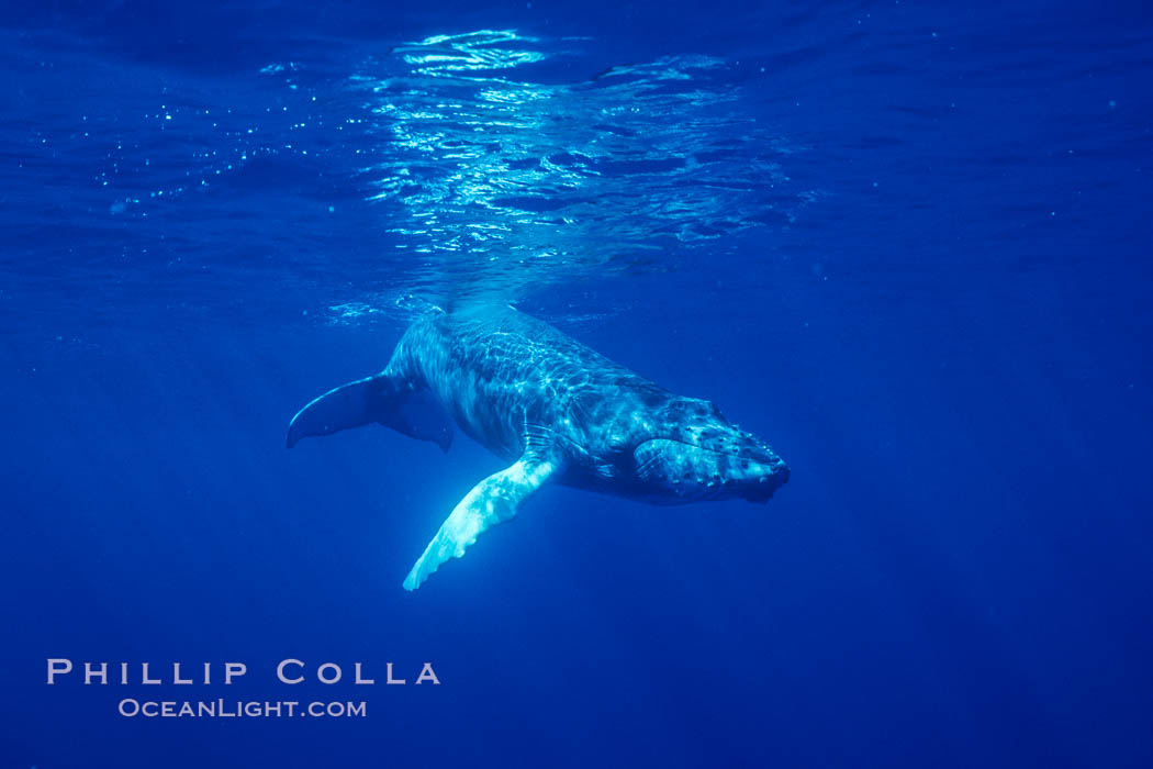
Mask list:
[[[452,422],[431,393],[389,374],[349,382],[300,409],[288,423],[287,445],[372,423],[430,440],[443,451],[452,445]]]

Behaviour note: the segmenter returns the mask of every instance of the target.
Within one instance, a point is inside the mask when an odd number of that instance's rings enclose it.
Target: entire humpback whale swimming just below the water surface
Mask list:
[[[789,480],[773,448],[711,402],[673,394],[511,307],[427,311],[384,371],[304,406],[287,444],[379,423],[449,451],[453,422],[510,465],[453,508],[408,590],[547,482],[678,504],[766,502]]]

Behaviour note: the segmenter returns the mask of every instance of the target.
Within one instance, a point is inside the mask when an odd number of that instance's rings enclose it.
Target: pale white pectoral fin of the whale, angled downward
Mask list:
[[[550,460],[522,457],[511,467],[493,473],[465,495],[440,525],[424,555],[405,578],[405,589],[415,590],[440,564],[460,558],[489,527],[517,514],[522,502],[541,488],[557,469]]]

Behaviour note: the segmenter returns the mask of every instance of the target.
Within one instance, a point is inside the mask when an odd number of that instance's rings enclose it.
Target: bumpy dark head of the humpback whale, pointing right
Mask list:
[[[707,400],[670,400],[639,438],[633,474],[654,502],[766,502],[789,480],[789,467],[769,444],[731,424]]]

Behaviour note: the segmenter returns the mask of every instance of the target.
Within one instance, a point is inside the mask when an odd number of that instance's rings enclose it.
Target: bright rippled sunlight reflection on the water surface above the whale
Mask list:
[[[804,205],[775,189],[790,148],[743,113],[730,62],[668,56],[560,83],[542,70],[570,55],[481,30],[398,46],[352,78],[376,137],[361,173],[402,212],[385,227],[420,255],[414,293],[515,299],[666,270]]]

